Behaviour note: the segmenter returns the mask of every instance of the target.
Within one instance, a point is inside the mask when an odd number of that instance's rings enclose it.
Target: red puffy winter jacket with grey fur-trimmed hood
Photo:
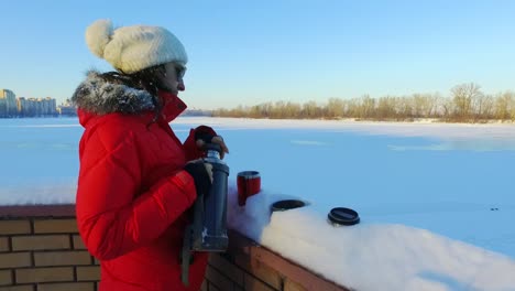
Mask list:
[[[195,254],[189,288],[180,281],[179,265],[185,226],[191,218],[187,209],[196,198],[194,180],[182,170],[187,160],[200,158],[195,130],[182,144],[168,122],[185,104],[160,93],[165,106],[153,122],[147,98],[146,91],[109,84],[95,72],[74,94],[85,127],[78,229],[100,261],[100,291],[199,290],[207,254]],[[215,134],[208,127],[197,130]]]

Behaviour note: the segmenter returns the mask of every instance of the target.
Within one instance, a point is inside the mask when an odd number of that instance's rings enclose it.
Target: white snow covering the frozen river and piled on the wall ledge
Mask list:
[[[515,126],[178,118],[229,146],[229,224],[357,290],[515,290]],[[0,119],[0,204],[75,201],[75,118]],[[240,171],[262,192],[235,204]],[[308,206],[270,212],[278,200]],[[332,207],[361,223],[333,227]]]

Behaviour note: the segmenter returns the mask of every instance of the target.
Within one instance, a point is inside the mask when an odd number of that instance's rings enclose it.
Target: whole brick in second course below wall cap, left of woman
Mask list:
[[[69,236],[14,236],[12,250],[69,249]]]

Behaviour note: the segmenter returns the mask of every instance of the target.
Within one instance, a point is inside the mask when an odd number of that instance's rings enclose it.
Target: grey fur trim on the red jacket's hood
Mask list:
[[[72,96],[72,101],[78,109],[95,115],[140,114],[155,108],[152,95],[146,90],[108,82],[97,71],[88,72]]]

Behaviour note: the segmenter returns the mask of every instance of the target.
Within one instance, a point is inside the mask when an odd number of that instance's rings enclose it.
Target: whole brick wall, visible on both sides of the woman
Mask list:
[[[235,231],[210,257],[204,291],[348,290]],[[0,291],[96,291],[98,261],[78,236],[73,205],[0,206]]]

